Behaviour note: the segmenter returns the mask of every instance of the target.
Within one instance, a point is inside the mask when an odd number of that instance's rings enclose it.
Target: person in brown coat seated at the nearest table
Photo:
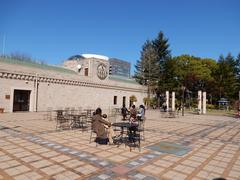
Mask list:
[[[97,138],[108,139],[108,131],[104,125],[110,127],[111,123],[102,118],[102,109],[97,108],[92,117],[92,130],[97,134]]]

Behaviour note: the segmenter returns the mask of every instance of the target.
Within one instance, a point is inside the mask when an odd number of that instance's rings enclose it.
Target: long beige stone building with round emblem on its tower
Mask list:
[[[146,87],[109,75],[109,66],[107,57],[91,54],[70,58],[61,67],[0,58],[0,108],[4,112],[111,109],[129,106],[131,96],[137,106],[143,104]]]

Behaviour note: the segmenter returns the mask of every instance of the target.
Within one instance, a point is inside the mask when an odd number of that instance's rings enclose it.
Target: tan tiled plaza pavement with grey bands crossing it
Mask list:
[[[141,151],[89,144],[90,131],[55,131],[42,113],[0,114],[0,179],[240,179],[240,119],[148,111]],[[183,156],[155,152],[167,141]]]

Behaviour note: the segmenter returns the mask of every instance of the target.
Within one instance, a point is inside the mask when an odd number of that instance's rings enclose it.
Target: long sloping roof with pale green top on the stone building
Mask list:
[[[89,76],[79,76],[75,71],[65,69],[63,67],[50,66],[46,64],[39,64],[34,62],[19,61],[9,58],[0,57],[0,71],[13,72],[20,74],[29,74],[35,76],[50,77],[57,79],[68,79],[72,81],[84,81],[86,83],[96,83],[99,85],[110,85],[123,88],[137,88],[143,89],[143,86],[135,82],[134,79],[128,79],[119,76],[109,76],[106,81],[98,81]]]

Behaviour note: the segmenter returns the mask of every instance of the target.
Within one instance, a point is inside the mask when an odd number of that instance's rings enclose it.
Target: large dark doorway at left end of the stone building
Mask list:
[[[14,90],[13,112],[29,111],[30,93],[28,90]]]

